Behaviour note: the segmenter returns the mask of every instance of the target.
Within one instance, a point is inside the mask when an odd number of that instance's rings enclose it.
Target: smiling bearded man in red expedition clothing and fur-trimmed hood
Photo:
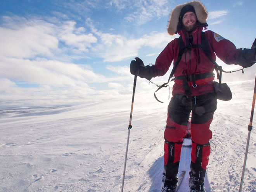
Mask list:
[[[179,57],[179,40],[175,38],[164,48],[153,66],[145,66],[141,60],[132,61],[131,74],[138,73],[141,78],[163,76],[171,62],[175,67],[175,84],[173,97],[168,106],[168,117],[164,131],[164,173],[162,192],[174,192],[178,182],[177,173],[189,114],[191,119],[191,164],[189,187],[190,192],[204,192],[204,176],[210,155],[209,140],[212,132],[209,129],[216,110],[217,99],[214,91],[214,64],[216,55],[226,64],[239,64],[250,67],[256,62],[256,48],[237,49],[235,45],[214,33],[206,31],[204,35],[209,43],[209,55],[201,45],[202,29],[208,26],[208,14],[204,5],[192,1],[178,5],[170,14],[168,33],[178,33],[187,49]],[[256,40],[253,45],[256,45]],[[216,54],[216,55],[215,55]]]

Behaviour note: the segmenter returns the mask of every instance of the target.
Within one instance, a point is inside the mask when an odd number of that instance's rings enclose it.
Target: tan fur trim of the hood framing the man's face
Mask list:
[[[208,12],[206,11],[206,8],[200,1],[191,1],[188,3],[177,5],[172,12],[170,13],[170,19],[168,21],[168,28],[167,31],[170,35],[175,35],[178,30],[179,20],[180,20],[180,11],[182,8],[186,5],[192,5],[195,9],[195,14],[197,16],[197,20],[200,24],[203,24],[201,26],[208,26],[206,23],[206,19],[208,17]]]

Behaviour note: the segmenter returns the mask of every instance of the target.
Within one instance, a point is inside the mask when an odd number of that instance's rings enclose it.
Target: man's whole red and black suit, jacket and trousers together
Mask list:
[[[180,30],[177,33],[182,36],[185,46],[189,44],[200,45],[202,29],[203,27],[197,27],[192,32],[192,37],[190,35],[190,38],[189,33],[185,30]],[[247,67],[255,62],[248,61],[246,53],[242,49],[237,49],[229,40],[213,31],[205,31],[204,33],[209,42],[210,54],[214,61],[217,55],[226,64],[243,63],[242,66]],[[152,76],[163,76],[168,71],[171,63],[175,63],[178,59],[178,52],[178,38],[175,38],[159,54],[156,64],[151,66],[153,69]],[[164,131],[164,170],[166,178],[176,178],[178,173],[182,138],[185,136],[191,111],[191,171],[194,171],[194,175],[199,176],[201,179],[205,176],[210,155],[209,140],[212,138],[212,132],[209,127],[217,105],[213,86],[214,76],[196,79],[196,86],[193,86],[194,81],[189,81],[190,95],[185,93],[183,81],[177,77],[194,74],[199,74],[200,76],[213,71],[213,62],[198,47],[189,48],[183,53],[182,59],[178,62],[174,73],[176,79],[173,85],[173,97],[168,106],[168,118]]]

